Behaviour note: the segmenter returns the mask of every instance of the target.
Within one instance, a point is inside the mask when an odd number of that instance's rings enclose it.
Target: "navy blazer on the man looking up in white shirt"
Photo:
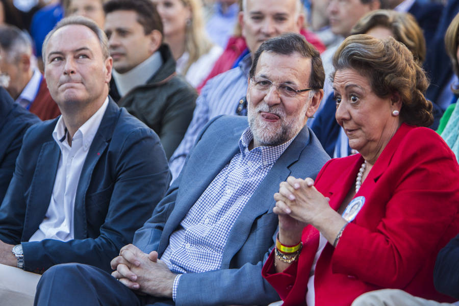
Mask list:
[[[0,207],[0,240],[22,243],[27,271],[84,263],[111,271],[110,261],[132,242],[166,191],[170,174],[158,136],[110,98],[83,165],[75,195],[74,239],[28,242],[43,221],[53,192],[60,148],[57,123],[31,127]]]

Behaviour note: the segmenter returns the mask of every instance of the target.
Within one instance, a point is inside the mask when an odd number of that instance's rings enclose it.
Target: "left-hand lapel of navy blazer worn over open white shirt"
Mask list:
[[[54,121],[57,122],[57,120]],[[21,241],[29,241],[46,215],[53,193],[60,155],[61,150],[54,139],[41,146],[30,190],[26,191],[30,196],[25,209]]]

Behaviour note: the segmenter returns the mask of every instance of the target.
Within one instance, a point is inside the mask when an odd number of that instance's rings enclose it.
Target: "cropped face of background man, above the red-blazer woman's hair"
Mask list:
[[[363,4],[361,0],[330,0],[327,14],[331,32],[344,37],[348,36],[354,24],[363,15],[379,8],[375,3]]]

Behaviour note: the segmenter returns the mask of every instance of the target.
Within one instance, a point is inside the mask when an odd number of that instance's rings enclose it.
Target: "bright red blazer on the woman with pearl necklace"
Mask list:
[[[330,160],[315,186],[337,210],[353,188],[360,154]],[[382,151],[356,196],[365,204],[336,247],[323,249],[315,269],[315,304],[350,305],[359,295],[398,288],[415,296],[452,301],[433,287],[439,250],[459,233],[459,165],[441,137],[402,124]],[[305,304],[319,232],[303,230],[297,263],[274,273],[271,253],[263,276],[284,305]]]

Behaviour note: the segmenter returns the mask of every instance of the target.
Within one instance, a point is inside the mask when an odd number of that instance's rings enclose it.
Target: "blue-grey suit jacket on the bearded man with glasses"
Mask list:
[[[158,204],[152,217],[134,236],[144,252],[161,256],[170,235],[221,169],[239,150],[247,117],[220,116],[198,137],[184,169]],[[239,215],[228,237],[220,270],[183,274],[176,305],[267,304],[279,300],[261,276],[263,262],[273,247],[277,215],[273,194],[289,175],[316,177],[329,159],[314,133],[304,127],[268,172]]]

